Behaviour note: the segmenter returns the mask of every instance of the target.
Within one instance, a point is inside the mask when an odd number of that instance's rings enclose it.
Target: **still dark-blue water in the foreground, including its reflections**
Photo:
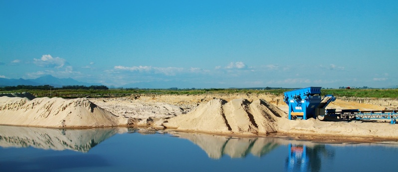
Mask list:
[[[393,172],[398,143],[321,144],[136,128],[0,126],[0,172]]]

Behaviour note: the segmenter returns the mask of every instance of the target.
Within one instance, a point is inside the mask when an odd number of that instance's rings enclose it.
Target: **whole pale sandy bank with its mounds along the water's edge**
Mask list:
[[[33,97],[34,98],[34,97]],[[349,100],[346,98],[346,100]],[[375,102],[372,104],[372,101]],[[384,110],[393,103],[337,98],[328,108]],[[397,100],[391,100],[397,101]],[[367,103],[359,103],[367,102]],[[398,107],[397,107],[398,108]],[[390,121],[287,120],[288,106],[273,94],[132,95],[118,98],[0,97],[0,125],[39,127],[145,126],[214,134],[297,138],[398,140]],[[330,139],[333,140],[333,139]]]

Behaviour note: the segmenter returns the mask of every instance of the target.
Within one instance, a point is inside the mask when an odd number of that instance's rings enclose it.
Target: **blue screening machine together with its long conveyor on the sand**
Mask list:
[[[335,101],[333,95],[321,97],[321,87],[306,87],[284,92],[284,101],[289,106],[289,119],[309,119],[329,116],[339,119],[391,119],[395,124],[398,119],[398,110],[371,110],[359,109],[327,109],[326,106]]]

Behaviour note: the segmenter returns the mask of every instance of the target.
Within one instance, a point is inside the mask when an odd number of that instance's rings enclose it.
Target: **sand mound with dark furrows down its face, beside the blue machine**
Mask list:
[[[274,122],[286,114],[263,99],[253,102],[215,98],[201,103],[187,114],[163,123],[167,128],[224,134],[260,134],[276,132]]]

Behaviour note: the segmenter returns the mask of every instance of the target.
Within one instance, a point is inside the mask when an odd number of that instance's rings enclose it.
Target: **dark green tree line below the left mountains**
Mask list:
[[[108,90],[108,86],[62,86],[62,87],[54,87],[50,85],[44,86],[25,86],[25,85],[18,85],[18,86],[4,86],[1,88],[6,91],[13,91],[13,90],[48,90],[48,89],[84,89],[84,90]]]

